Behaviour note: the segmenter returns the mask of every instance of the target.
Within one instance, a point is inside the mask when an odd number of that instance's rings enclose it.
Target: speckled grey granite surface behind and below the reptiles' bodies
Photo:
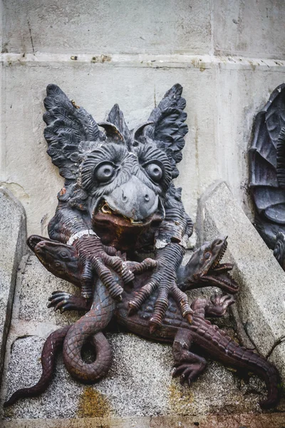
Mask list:
[[[2,400],[19,387],[36,383],[41,374],[40,356],[44,340],[58,325],[78,319],[78,312],[59,315],[46,308],[46,300],[52,290],[72,291],[71,287],[47,272],[35,256],[28,257],[16,285]],[[210,294],[210,289],[195,290],[190,298]],[[223,317],[219,325],[235,337],[232,317]],[[60,352],[55,377],[46,392],[40,397],[20,400],[5,409],[2,414],[4,420],[169,414],[200,417],[217,413],[260,412],[259,399],[266,391],[257,377],[237,376],[209,358],[207,370],[188,387],[181,385],[179,379],[172,379],[170,345],[149,342],[123,332],[109,332],[108,340],[113,348],[113,365],[105,379],[93,386],[74,381],[63,365]],[[279,410],[283,407],[281,403]]]

